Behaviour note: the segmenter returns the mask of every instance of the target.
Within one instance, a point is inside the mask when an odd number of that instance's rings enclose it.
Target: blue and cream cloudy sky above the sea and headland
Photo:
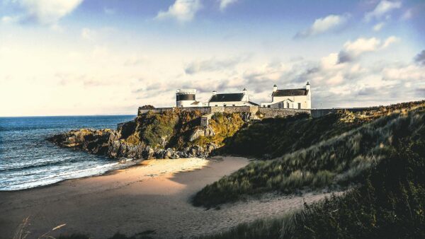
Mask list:
[[[424,0],[0,0],[0,117],[136,114],[179,88],[425,98]]]

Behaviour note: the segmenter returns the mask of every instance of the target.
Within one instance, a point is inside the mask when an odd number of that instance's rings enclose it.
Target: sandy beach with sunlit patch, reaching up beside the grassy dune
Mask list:
[[[303,200],[313,202],[326,195],[251,199],[210,210],[190,204],[202,187],[247,163],[239,157],[144,161],[107,175],[0,192],[0,238],[13,238],[27,217],[27,238],[38,238],[63,224],[49,235],[84,233],[107,238],[118,231],[126,235],[150,231],[153,238],[191,238],[293,211]]]

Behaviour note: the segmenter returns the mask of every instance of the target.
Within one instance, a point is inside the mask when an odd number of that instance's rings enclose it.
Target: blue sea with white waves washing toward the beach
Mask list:
[[[0,117],[0,190],[23,190],[123,168],[103,156],[60,148],[46,140],[71,129],[116,129],[135,115]]]

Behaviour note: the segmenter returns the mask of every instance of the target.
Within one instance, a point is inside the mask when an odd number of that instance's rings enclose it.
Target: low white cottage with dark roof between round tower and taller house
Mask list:
[[[217,94],[216,91],[212,91],[212,96],[208,100],[208,106],[244,106],[244,105],[257,105],[249,101],[248,91],[246,88],[242,93],[226,93]]]

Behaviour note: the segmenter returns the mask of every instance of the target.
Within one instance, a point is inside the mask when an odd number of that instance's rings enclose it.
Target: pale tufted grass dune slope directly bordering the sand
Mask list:
[[[377,118],[282,158],[250,163],[204,187],[193,204],[209,207],[263,192],[291,194],[344,187],[359,182],[366,170],[388,156],[397,140],[425,137],[423,106]]]

